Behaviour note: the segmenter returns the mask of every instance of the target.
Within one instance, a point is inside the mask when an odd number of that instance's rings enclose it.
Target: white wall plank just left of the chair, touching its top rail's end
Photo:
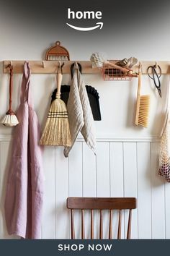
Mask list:
[[[66,208],[68,197],[68,158],[63,157],[63,147],[55,148],[55,210],[56,239],[70,236],[69,210]],[[63,228],[64,223],[64,228]]]

